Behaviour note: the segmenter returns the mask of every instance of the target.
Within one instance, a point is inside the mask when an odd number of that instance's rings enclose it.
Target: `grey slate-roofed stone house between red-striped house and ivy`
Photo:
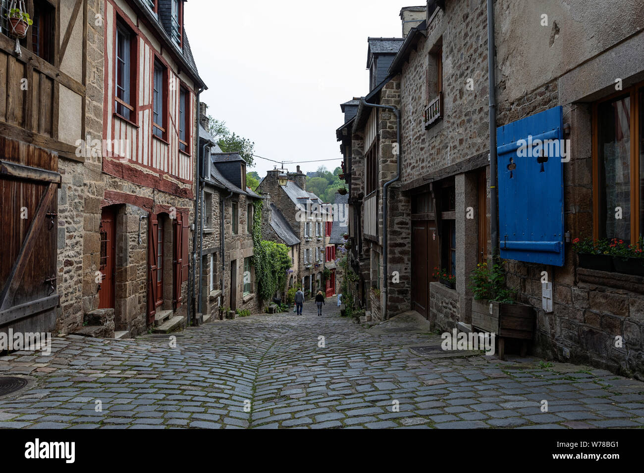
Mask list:
[[[204,124],[202,104],[199,124],[200,170],[204,176],[199,213],[202,237],[198,238],[200,284],[197,313],[203,320],[222,317],[227,311],[258,312],[252,225],[254,202],[260,196],[246,186],[246,162],[238,153],[223,153]]]

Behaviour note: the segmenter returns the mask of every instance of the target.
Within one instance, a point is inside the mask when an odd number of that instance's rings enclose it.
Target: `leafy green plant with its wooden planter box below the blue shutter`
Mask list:
[[[492,267],[479,263],[470,277],[472,326],[495,333],[499,340],[498,355],[504,358],[504,338],[531,340],[535,327],[535,310],[515,301],[516,291],[507,288],[503,262],[495,258]],[[522,356],[527,344],[523,343]]]

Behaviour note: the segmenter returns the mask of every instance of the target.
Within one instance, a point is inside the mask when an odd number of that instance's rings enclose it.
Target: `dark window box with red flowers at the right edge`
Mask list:
[[[639,237],[636,245],[629,245],[617,238],[573,240],[573,250],[579,257],[582,268],[636,276],[644,276],[642,248],[642,237]]]

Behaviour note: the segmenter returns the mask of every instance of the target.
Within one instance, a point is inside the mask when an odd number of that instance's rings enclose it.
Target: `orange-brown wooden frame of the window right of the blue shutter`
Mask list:
[[[601,98],[592,104],[592,237],[593,239],[600,239],[600,205],[601,198],[603,197],[602,189],[600,189],[600,171],[601,166],[599,162],[599,114],[598,109],[601,104],[610,102],[615,98],[628,95],[630,99],[630,160],[629,160],[629,173],[630,173],[630,243],[636,244],[639,236],[644,233],[641,232],[641,200],[644,197],[644,189],[641,189],[639,182],[644,176],[641,176],[639,167],[639,158],[641,150],[639,149],[639,142],[642,139],[640,136],[641,124],[639,124],[639,116],[644,116],[644,110],[641,110],[641,96],[644,95],[644,82],[638,82],[621,91],[612,93],[607,97]]]

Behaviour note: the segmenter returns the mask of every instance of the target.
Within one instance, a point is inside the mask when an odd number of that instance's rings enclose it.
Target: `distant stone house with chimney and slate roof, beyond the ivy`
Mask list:
[[[307,176],[299,170],[288,173],[286,185],[279,185],[277,169],[267,172],[261,181],[258,192],[267,195],[270,204],[279,210],[290,225],[299,243],[298,280],[305,295],[310,297],[322,290],[325,258],[325,219],[327,210],[319,197],[307,192]],[[263,216],[268,218],[269,214]],[[267,225],[264,225],[267,228]],[[295,250],[292,249],[295,259]],[[296,264],[294,263],[294,266]],[[287,278],[288,279],[288,278]],[[290,283],[289,283],[290,284]]]

